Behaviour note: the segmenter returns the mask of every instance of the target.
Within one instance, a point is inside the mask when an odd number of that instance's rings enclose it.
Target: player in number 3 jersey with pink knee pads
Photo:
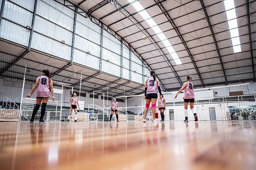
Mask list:
[[[160,98],[162,98],[162,93],[160,89],[160,82],[158,79],[155,78],[155,71],[151,70],[150,71],[150,77],[146,80],[145,82],[145,100],[146,100],[146,106],[144,109],[144,119],[143,122],[146,122],[146,116],[147,116],[147,111],[151,102],[152,106],[152,116],[153,120],[152,123],[157,123],[155,120],[155,103],[157,100],[157,88],[160,94]]]

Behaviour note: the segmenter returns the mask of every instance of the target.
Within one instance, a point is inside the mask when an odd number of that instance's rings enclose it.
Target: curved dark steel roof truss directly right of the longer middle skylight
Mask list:
[[[187,50],[187,52],[188,52],[188,54],[189,54],[189,57],[190,57],[190,59],[191,59],[193,65],[194,65],[194,67],[195,67],[195,69],[196,69],[196,71],[197,71],[197,74],[198,74],[199,79],[200,79],[200,81],[201,81],[201,83],[202,83],[202,86],[205,87],[204,82],[203,82],[203,79],[202,79],[202,77],[201,77],[201,74],[199,73],[199,70],[198,70],[198,68],[197,68],[196,62],[195,62],[195,60],[194,60],[194,58],[193,58],[193,56],[192,56],[192,54],[191,54],[191,52],[190,52],[190,50],[189,50],[189,48],[188,48],[188,46],[187,46],[187,44],[186,44],[184,38],[182,37],[182,35],[181,35],[179,29],[177,28],[177,26],[176,26],[176,24],[174,23],[173,19],[170,17],[169,13],[165,10],[165,8],[163,7],[163,5],[162,5],[161,3],[159,3],[160,1],[159,1],[159,0],[154,0],[154,2],[155,2],[155,3],[158,3],[157,6],[158,6],[159,9],[162,11],[163,15],[167,18],[168,22],[173,26],[175,32],[178,34],[179,38],[181,39],[181,41],[182,41],[184,47],[186,48],[186,50]],[[182,85],[182,84],[181,84],[181,85]]]

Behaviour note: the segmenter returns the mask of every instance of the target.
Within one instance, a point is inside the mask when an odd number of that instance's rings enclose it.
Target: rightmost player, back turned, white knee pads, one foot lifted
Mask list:
[[[182,88],[178,91],[175,99],[177,98],[178,94],[182,92],[184,89],[184,114],[185,114],[185,120],[184,122],[189,122],[188,120],[188,104],[190,103],[190,109],[192,110],[192,113],[194,113],[195,121],[198,121],[197,113],[194,109],[194,102],[195,102],[195,95],[194,95],[194,86],[191,82],[192,76],[187,76],[186,83],[183,84]]]

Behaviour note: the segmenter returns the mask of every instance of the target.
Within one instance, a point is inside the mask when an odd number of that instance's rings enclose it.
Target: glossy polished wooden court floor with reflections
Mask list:
[[[0,122],[0,169],[255,169],[256,121]]]

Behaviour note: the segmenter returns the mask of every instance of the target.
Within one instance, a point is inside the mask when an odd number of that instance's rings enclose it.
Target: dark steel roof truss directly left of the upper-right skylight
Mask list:
[[[217,41],[216,41],[216,38],[215,38],[215,35],[214,35],[214,32],[213,32],[213,29],[212,29],[212,25],[211,25],[211,22],[210,22],[210,19],[209,19],[208,13],[207,13],[207,11],[206,11],[206,8],[205,8],[205,5],[204,5],[203,0],[200,0],[200,3],[201,3],[201,5],[202,5],[202,7],[203,7],[203,10],[204,10],[204,13],[205,13],[205,16],[206,16],[208,25],[209,25],[210,30],[211,30],[211,33],[212,33],[212,38],[213,38],[214,44],[215,44],[215,46],[216,46],[216,50],[217,50],[217,53],[218,53],[218,57],[219,57],[219,59],[220,59],[220,64],[221,64],[222,71],[223,71],[223,74],[224,74],[225,82],[226,82],[226,85],[227,85],[227,76],[226,76],[225,69],[224,69],[224,66],[223,66],[223,63],[222,63],[222,59],[221,59],[221,56],[220,56],[219,47],[218,47],[218,44],[217,44]]]

